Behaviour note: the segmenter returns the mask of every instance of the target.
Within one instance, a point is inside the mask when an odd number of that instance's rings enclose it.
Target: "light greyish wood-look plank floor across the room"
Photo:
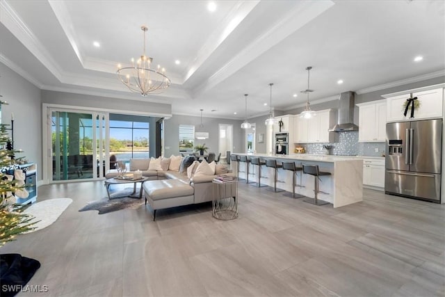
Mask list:
[[[445,205],[364,190],[364,202],[316,207],[240,182],[239,218],[211,204],[97,215],[103,182],[41,186],[72,198],[53,225],[0,253],[42,263],[44,296],[444,296]],[[35,294],[33,294],[35,295]],[[19,294],[31,296],[31,294]]]

